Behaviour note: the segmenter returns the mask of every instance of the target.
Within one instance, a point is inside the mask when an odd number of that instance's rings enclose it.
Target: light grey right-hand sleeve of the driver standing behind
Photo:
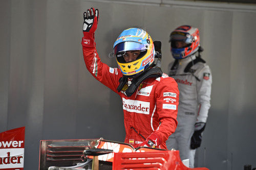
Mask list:
[[[208,117],[208,110],[210,108],[210,93],[211,93],[211,70],[208,65],[205,66],[196,73],[196,76],[200,79],[197,82],[197,100],[198,100],[198,116],[197,122],[206,123]]]

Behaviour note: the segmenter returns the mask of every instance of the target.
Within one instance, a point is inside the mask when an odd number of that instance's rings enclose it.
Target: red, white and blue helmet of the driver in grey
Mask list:
[[[184,42],[185,46],[178,47],[177,41]],[[200,36],[198,28],[191,26],[180,26],[170,33],[170,52],[175,59],[183,59],[195,54],[200,46]]]

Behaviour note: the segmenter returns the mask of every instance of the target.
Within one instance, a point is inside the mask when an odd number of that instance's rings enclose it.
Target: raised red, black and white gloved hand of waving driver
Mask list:
[[[88,9],[87,12],[83,13],[83,38],[82,45],[84,46],[95,46],[94,32],[98,26],[99,11],[98,9]]]

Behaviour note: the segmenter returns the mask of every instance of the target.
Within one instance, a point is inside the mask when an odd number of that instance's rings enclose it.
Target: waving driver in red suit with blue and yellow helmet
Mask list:
[[[95,79],[120,95],[125,140],[137,147],[167,149],[165,141],[177,127],[178,85],[163,74],[161,55],[146,31],[124,30],[114,43],[118,68],[102,63],[95,44],[99,12],[84,12],[82,49],[87,69]]]

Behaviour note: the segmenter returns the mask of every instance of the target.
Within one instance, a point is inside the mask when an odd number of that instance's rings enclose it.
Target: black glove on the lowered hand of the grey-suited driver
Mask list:
[[[202,132],[204,131],[205,123],[200,122],[195,124],[195,132],[191,137],[190,149],[197,149],[202,142]]]

